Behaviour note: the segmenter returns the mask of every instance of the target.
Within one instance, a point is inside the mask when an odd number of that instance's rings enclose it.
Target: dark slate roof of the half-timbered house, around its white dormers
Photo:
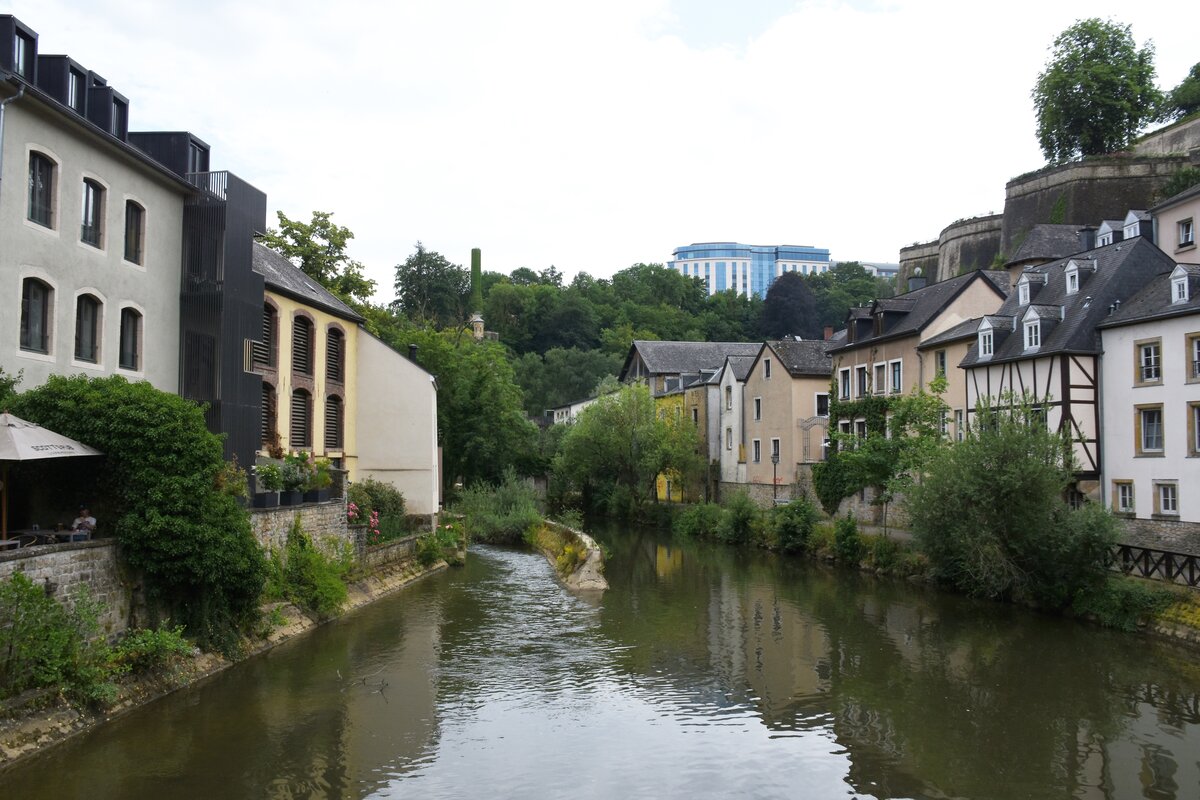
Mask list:
[[[1175,261],[1151,245],[1145,236],[1097,247],[1088,251],[1087,257],[1096,259],[1097,270],[1094,273],[1081,271],[1082,284],[1078,293],[1070,295],[1067,294],[1064,277],[1070,258],[1061,258],[1026,270],[1026,272],[1045,275],[1048,278],[1046,284],[1038,290],[1034,297],[1037,313],[1042,315],[1049,308],[1051,311],[1046,313],[1050,320],[1062,318],[1062,321],[1048,325],[1043,330],[1042,345],[1037,350],[1028,353],[1025,350],[1025,337],[1020,332],[1021,324],[1013,321],[1009,324],[1013,325],[1014,335],[1006,336],[1003,341],[997,342],[996,351],[990,359],[980,361],[978,357],[979,345],[974,343],[967,350],[961,366],[972,367],[979,363],[1019,361],[1050,353],[1099,353],[1100,337],[1097,326],[1108,319],[1109,306],[1116,300],[1124,302],[1136,294],[1147,281],[1175,269]],[[995,319],[995,317],[1008,318],[1008,320],[1022,319],[1028,307],[1020,306],[1018,299],[1018,294],[1013,293],[990,319]]]

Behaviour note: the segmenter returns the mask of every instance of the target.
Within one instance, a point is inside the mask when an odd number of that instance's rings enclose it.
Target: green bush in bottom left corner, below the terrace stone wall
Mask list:
[[[0,697],[41,687],[90,704],[115,697],[98,610],[86,593],[64,606],[23,572],[0,582]]]

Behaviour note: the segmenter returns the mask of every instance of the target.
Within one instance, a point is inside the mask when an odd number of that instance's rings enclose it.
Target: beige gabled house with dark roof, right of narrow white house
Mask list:
[[[745,380],[746,481],[790,486],[824,458],[829,356],[822,341],[767,342]],[[790,497],[785,494],[781,497]]]

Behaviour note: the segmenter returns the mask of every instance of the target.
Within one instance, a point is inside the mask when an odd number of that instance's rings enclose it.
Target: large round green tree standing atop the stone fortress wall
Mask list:
[[[1129,25],[1082,19],[1054,41],[1033,86],[1038,144],[1050,163],[1123,150],[1154,120],[1154,46]]]

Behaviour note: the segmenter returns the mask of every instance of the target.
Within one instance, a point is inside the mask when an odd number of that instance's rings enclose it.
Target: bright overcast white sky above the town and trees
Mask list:
[[[1030,90],[1079,18],[1171,89],[1200,10],[1144,0],[0,0],[212,168],[355,233],[392,296],[451,261],[606,277],[696,241],[896,261],[1043,166]]]

